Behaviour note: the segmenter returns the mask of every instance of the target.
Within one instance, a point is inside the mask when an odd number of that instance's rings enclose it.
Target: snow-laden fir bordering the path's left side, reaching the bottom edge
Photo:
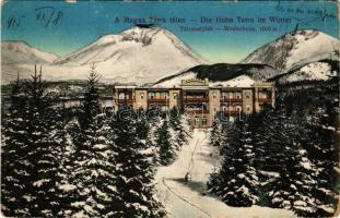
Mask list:
[[[152,149],[145,149],[144,142],[137,135],[137,120],[133,111],[118,111],[112,122],[115,132],[117,169],[117,192],[124,204],[119,217],[163,217],[162,205],[155,198],[153,185],[154,169],[150,157]]]

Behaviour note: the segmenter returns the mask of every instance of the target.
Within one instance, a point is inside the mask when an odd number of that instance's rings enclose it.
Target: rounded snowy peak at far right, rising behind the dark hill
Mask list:
[[[340,60],[339,40],[314,29],[296,31],[250,53],[243,63],[271,65],[280,73],[324,59]]]

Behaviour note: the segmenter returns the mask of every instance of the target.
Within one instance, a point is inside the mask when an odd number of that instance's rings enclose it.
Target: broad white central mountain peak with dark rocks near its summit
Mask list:
[[[106,35],[55,61],[55,65],[95,63],[103,77],[113,81],[155,82],[206,61],[171,32],[136,26],[118,35]],[[85,74],[83,72],[82,74]],[[79,77],[85,77],[80,75]]]

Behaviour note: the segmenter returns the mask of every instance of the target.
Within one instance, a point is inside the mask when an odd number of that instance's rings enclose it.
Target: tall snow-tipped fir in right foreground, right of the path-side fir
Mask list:
[[[279,173],[274,180],[266,183],[265,192],[269,196],[269,206],[294,210],[298,216],[314,216],[316,202],[313,189],[316,185],[317,169],[309,161],[304,142],[304,123],[296,120],[294,111],[286,116],[285,108],[278,108],[271,113],[272,129],[269,129],[270,145],[280,150],[281,155],[267,153],[277,165],[271,164],[262,169],[271,169]],[[274,128],[274,129],[273,129]],[[265,149],[263,147],[261,149]]]

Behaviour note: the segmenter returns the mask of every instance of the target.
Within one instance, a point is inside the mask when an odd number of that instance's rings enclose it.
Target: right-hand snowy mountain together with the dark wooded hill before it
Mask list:
[[[335,75],[333,68],[323,60],[339,62],[339,49],[337,49],[339,47],[339,40],[315,29],[291,32],[250,52],[239,63],[194,66],[187,72],[161,78],[155,85],[173,86],[180,83],[179,77],[202,78],[204,76],[212,84],[224,82],[225,85],[242,85],[243,82],[249,85],[251,80],[278,80],[280,83],[296,80],[328,80]],[[339,71],[336,70],[336,73],[339,74]],[[284,76],[285,74],[291,76]],[[284,81],[285,77],[288,81]],[[230,83],[226,83],[227,81]]]

